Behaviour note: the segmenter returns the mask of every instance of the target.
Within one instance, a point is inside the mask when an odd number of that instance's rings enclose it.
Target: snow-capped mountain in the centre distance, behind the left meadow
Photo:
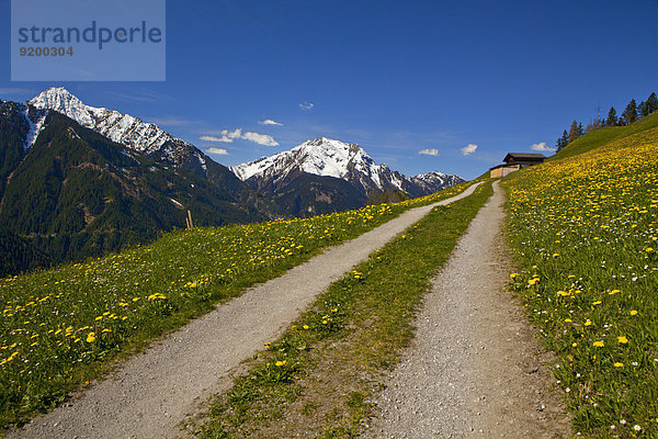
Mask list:
[[[294,198],[294,209],[288,205],[286,211],[292,214],[332,211],[330,205],[324,206],[329,209],[326,211],[315,202],[336,199],[322,190],[319,178],[322,178],[325,185],[331,182],[334,195],[340,187],[343,198],[341,201],[349,205],[359,205],[368,199],[396,200],[401,196],[427,195],[464,181],[457,176],[439,171],[410,178],[392,170],[385,164],[375,164],[356,144],[326,137],[306,140],[293,149],[234,166],[230,170],[261,194],[277,199],[285,193],[287,198]],[[308,193],[303,184],[296,182],[299,178],[315,181],[311,191],[315,193]],[[306,192],[293,195],[293,188]]]

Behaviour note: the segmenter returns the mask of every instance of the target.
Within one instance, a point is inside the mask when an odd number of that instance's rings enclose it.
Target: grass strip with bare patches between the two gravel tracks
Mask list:
[[[331,284],[186,428],[202,438],[354,437],[396,364],[431,278],[492,193],[439,206]]]

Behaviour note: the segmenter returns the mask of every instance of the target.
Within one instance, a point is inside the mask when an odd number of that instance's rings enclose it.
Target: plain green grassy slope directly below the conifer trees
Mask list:
[[[603,145],[608,145],[613,140],[632,136],[643,131],[656,127],[658,127],[658,112],[650,114],[642,119],[639,122],[636,122],[628,126],[608,126],[604,128],[595,130],[571,142],[564,149],[558,151],[555,156],[551,157],[549,160],[577,156],[579,154],[587,153]]]

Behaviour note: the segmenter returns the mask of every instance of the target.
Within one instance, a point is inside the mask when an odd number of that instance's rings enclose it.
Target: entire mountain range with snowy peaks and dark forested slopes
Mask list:
[[[356,144],[319,137],[231,167],[152,123],[64,88],[0,100],[0,274],[79,260],[185,226],[354,209],[463,181],[412,178]]]

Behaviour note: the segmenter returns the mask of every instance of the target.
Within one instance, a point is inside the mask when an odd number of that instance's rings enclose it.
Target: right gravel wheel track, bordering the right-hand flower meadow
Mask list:
[[[434,279],[405,360],[386,379],[366,438],[560,438],[548,354],[504,292],[503,195],[480,210]]]

